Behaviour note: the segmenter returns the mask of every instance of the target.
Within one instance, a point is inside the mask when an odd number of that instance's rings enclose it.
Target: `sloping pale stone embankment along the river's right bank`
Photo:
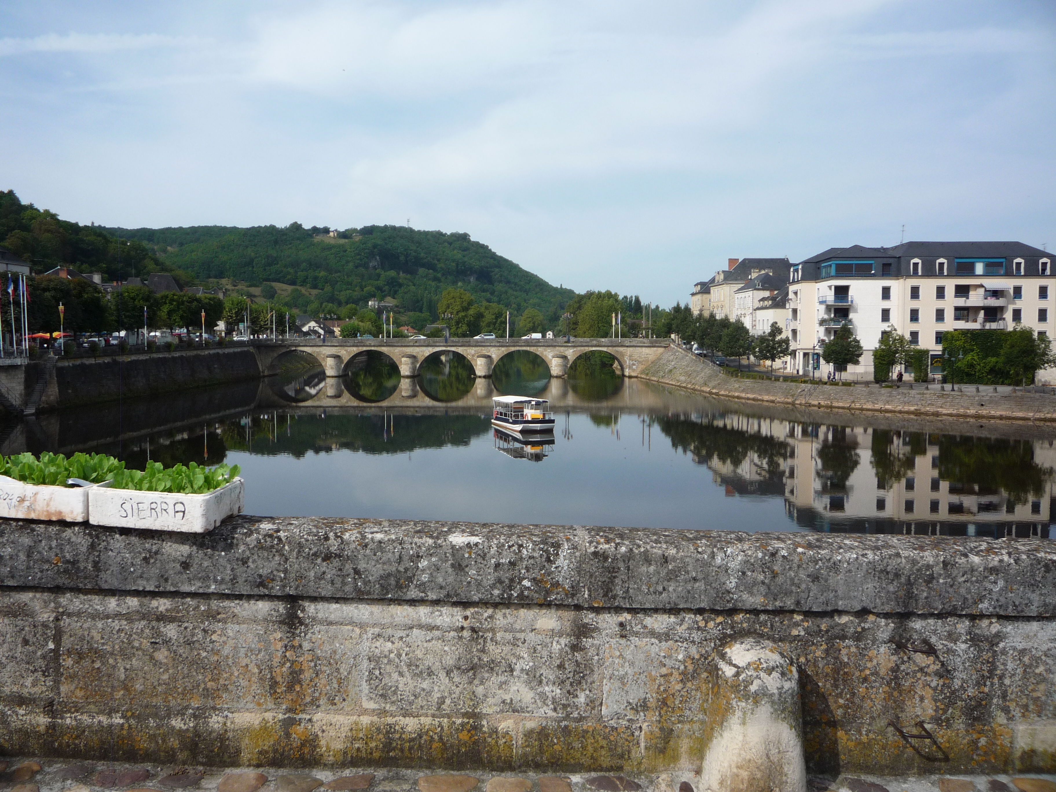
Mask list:
[[[798,409],[898,413],[963,420],[1056,421],[1056,396],[995,393],[988,385],[914,384],[881,388],[875,383],[829,385],[740,379],[678,346],[670,346],[639,374],[642,379],[712,396],[782,404]],[[940,390],[941,389],[941,390]]]

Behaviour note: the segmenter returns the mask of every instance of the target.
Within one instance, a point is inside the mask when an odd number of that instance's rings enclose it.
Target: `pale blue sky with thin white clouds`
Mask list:
[[[1054,121],[1052,0],[0,4],[23,201],[466,231],[663,305],[730,258],[1053,249]]]

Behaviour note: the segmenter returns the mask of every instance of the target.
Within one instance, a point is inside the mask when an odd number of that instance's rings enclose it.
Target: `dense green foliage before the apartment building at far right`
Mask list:
[[[954,382],[1025,385],[1056,365],[1049,338],[1030,327],[953,331],[942,336],[943,373]]]

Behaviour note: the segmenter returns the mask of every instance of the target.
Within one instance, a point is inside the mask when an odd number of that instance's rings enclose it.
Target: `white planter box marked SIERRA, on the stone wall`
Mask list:
[[[225,517],[240,513],[245,505],[241,478],[205,495],[117,490],[109,485],[107,482],[89,490],[88,514],[92,525],[206,533]]]

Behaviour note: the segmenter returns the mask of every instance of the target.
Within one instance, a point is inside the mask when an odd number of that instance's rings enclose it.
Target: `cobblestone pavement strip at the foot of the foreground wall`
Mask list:
[[[392,768],[295,770],[0,759],[0,792],[705,792],[694,773],[552,774]],[[811,776],[811,792],[1056,792],[1056,776]]]

